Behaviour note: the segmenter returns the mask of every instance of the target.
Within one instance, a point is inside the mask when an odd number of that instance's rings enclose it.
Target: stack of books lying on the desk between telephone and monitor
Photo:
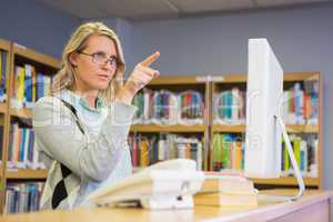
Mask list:
[[[241,173],[205,172],[202,189],[194,195],[195,205],[258,206],[258,190]]]

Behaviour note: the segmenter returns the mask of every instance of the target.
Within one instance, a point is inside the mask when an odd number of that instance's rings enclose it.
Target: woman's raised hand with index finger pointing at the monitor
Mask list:
[[[124,87],[118,94],[118,100],[131,104],[133,97],[144,88],[152,79],[160,75],[158,70],[150,68],[150,65],[160,57],[160,52],[155,52],[138,63],[124,83]]]

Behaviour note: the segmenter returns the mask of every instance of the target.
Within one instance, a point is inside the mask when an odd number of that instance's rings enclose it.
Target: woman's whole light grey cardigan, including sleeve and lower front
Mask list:
[[[59,98],[44,97],[37,102],[32,118],[34,145],[40,151],[40,159],[49,168],[41,199],[42,209],[51,209],[54,186],[61,180],[60,162],[73,173],[65,179],[69,198],[59,208],[70,209],[82,201],[88,194],[82,193],[82,186],[88,181],[99,183],[108,179],[120,157],[124,152],[129,155],[127,138],[134,112],[132,105],[113,102],[95,138],[78,119],[87,133],[80,131],[75,115]]]

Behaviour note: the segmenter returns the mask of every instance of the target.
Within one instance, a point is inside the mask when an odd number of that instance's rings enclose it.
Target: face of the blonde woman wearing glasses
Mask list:
[[[117,70],[114,58],[118,53],[111,39],[105,36],[89,37],[85,49],[70,57],[75,67],[75,88],[84,91],[107,89]],[[108,62],[103,62],[105,59],[109,59]],[[113,61],[110,62],[110,59]]]

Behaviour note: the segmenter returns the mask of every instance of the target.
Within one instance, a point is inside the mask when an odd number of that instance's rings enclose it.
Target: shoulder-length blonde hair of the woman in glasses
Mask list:
[[[117,48],[119,63],[113,79],[110,81],[109,87],[100,92],[104,95],[108,103],[110,103],[115,93],[123,85],[123,73],[125,70],[124,58],[120,40],[117,34],[102,22],[87,22],[81,24],[71,36],[62,52],[61,69],[54,75],[52,84],[52,94],[62,89],[70,89],[75,83],[74,67],[70,62],[70,56],[73,52],[83,50],[87,47],[89,37],[105,36],[110,38]]]

